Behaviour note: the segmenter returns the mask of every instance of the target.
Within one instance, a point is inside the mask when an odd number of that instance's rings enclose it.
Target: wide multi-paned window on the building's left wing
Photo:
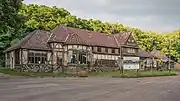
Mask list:
[[[45,64],[47,61],[47,53],[28,52],[28,63]]]

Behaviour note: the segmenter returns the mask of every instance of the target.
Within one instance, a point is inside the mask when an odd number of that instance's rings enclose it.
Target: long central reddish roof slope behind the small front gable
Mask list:
[[[106,35],[104,33],[95,32],[95,31],[88,31],[84,29],[78,29],[78,28],[71,28],[71,27],[57,27],[55,30],[52,31],[52,36],[49,40],[49,42],[65,42],[68,37],[68,35],[76,34],[81,39],[83,39],[88,45],[97,45],[97,46],[105,46],[105,47],[118,47],[117,41],[115,40],[116,37],[114,35]],[[122,34],[122,33],[120,33]],[[119,35],[119,34],[117,34]],[[129,35],[129,34],[126,34]],[[123,34],[123,38],[127,38]],[[117,37],[120,41],[119,37]],[[121,42],[121,41],[120,41]]]

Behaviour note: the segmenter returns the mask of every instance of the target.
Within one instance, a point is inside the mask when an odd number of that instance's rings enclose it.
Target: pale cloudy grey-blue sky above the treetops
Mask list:
[[[170,32],[180,29],[180,0],[24,0],[65,8],[80,18],[140,28],[145,31]]]

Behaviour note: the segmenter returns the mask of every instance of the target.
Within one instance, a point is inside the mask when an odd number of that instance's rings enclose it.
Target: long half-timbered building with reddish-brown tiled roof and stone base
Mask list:
[[[23,71],[138,69],[138,49],[131,32],[106,35],[58,26],[51,32],[35,30],[8,48],[6,66]]]

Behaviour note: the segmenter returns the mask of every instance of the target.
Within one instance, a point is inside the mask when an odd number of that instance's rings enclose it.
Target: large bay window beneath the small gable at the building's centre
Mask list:
[[[68,63],[70,64],[87,64],[88,55],[85,51],[69,50]]]

